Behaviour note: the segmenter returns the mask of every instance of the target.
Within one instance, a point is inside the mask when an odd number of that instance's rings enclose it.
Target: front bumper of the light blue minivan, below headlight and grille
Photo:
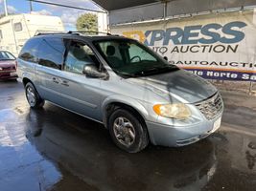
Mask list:
[[[186,126],[171,126],[147,121],[147,127],[154,145],[178,147],[197,142],[217,131],[220,127],[214,128],[215,123],[221,122],[222,112],[212,120],[203,120],[198,124]]]

